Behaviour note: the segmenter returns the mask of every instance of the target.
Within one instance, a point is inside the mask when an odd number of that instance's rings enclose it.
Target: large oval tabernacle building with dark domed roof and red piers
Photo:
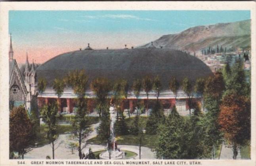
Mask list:
[[[74,98],[76,95],[69,87],[65,88],[60,99],[57,98],[52,88],[55,78],[63,78],[72,70],[84,69],[88,75],[88,89],[86,97],[89,99],[88,107],[94,111],[95,94],[90,89],[90,82],[97,77],[106,77],[110,81],[125,79],[129,87],[135,79],[142,79],[146,75],[160,77],[162,91],[159,99],[164,108],[170,108],[174,104],[182,115],[189,114],[187,106],[187,96],[180,89],[175,100],[174,93],[169,89],[170,78],[175,76],[180,82],[183,78],[195,82],[199,77],[213,75],[210,68],[200,59],[174,49],[156,48],[153,43],[148,48],[128,49],[100,49],[94,50],[88,44],[84,50],[72,51],[58,55],[36,69],[37,78],[46,78],[48,85],[46,90],[38,95],[38,108],[48,102],[60,100],[61,108],[59,112],[72,113],[75,108]],[[128,98],[123,101],[122,108],[134,111],[134,95],[132,89],[128,92]],[[140,100],[146,100],[146,93],[140,92]],[[151,101],[156,100],[156,92],[149,92],[149,108]]]

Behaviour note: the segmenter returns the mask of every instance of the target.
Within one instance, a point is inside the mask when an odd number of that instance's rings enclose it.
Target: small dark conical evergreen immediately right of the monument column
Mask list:
[[[128,126],[125,121],[125,116],[122,111],[117,114],[117,121],[115,123],[115,134],[118,136],[128,134]]]

